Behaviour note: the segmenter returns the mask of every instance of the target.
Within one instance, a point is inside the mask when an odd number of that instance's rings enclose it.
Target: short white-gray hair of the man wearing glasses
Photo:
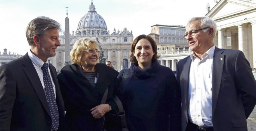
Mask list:
[[[189,19],[188,24],[186,25],[186,28],[195,20],[200,20],[200,27],[201,28],[205,28],[205,27],[211,27],[214,30],[214,35],[213,38],[215,38],[216,33],[217,33],[217,25],[214,22],[213,19],[209,18],[209,17],[193,17]],[[204,29],[203,31],[206,32],[208,29]]]

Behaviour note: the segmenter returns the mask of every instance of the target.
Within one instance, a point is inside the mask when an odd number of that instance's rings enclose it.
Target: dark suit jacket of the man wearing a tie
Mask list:
[[[49,64],[56,88],[59,129],[64,130],[64,102],[56,69]],[[50,109],[28,53],[0,66],[0,130],[51,131]]]

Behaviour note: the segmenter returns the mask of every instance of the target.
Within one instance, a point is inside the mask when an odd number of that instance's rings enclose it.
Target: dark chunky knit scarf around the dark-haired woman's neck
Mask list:
[[[157,60],[152,61],[151,66],[147,67],[145,70],[140,70],[138,68],[137,64],[131,63],[131,71],[133,72],[133,75],[138,77],[138,79],[148,79],[150,77],[155,77],[155,72],[157,67],[159,67],[160,64]]]

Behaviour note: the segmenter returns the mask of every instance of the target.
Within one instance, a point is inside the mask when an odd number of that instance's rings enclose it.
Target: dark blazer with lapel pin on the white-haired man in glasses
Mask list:
[[[188,122],[190,56],[178,62],[182,94],[182,131]],[[212,115],[214,131],[247,131],[246,119],[256,104],[256,81],[244,53],[215,47],[213,56]]]

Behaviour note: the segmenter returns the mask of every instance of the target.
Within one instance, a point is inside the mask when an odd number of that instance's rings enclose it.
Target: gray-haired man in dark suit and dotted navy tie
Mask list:
[[[29,22],[26,37],[31,46],[23,57],[0,66],[0,130],[1,131],[63,131],[64,102],[57,81],[56,69],[48,63],[55,56],[60,24],[48,17],[37,17]],[[45,75],[41,67],[47,63],[55,95],[57,110],[52,123]],[[48,87],[48,86],[47,86]],[[53,98],[51,98],[53,99]],[[55,124],[55,128],[52,125]]]

